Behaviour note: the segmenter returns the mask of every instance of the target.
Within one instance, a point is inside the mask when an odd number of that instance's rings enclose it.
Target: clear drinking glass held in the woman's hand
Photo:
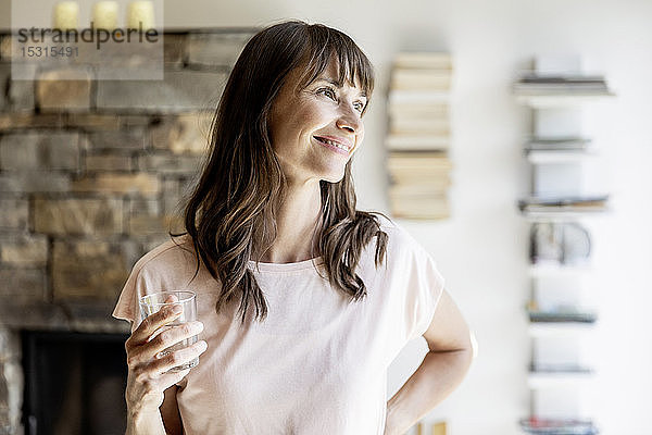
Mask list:
[[[193,291],[189,290],[176,290],[176,291],[158,291],[151,295],[146,295],[140,298],[140,313],[141,319],[145,320],[150,314],[153,314],[161,310],[163,307],[180,304],[184,309],[181,315],[175,319],[174,322],[163,326],[160,332],[171,328],[172,326],[183,325],[187,322],[197,320],[197,296]],[[178,349],[188,347],[197,343],[197,335],[180,340],[179,343],[161,351],[161,356],[164,357],[170,352]],[[181,370],[191,369],[199,364],[199,357],[189,361],[185,364],[172,368],[171,372],[179,372]]]

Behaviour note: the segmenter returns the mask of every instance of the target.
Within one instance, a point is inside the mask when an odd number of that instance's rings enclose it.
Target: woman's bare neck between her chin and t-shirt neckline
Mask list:
[[[276,239],[261,261],[294,263],[319,256],[321,223],[319,182],[288,183],[285,200],[277,208]]]

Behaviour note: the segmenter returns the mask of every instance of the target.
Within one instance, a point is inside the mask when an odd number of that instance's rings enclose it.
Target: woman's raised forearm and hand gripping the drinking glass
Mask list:
[[[173,413],[170,406],[172,397],[170,394],[164,393],[183,380],[190,369],[180,372],[166,372],[176,365],[193,360],[206,350],[206,343],[200,340],[164,357],[158,357],[162,350],[183,339],[192,337],[203,330],[201,322],[189,322],[180,326],[172,326],[163,332],[159,331],[179,315],[180,311],[175,312],[174,307],[165,307],[143,320],[125,343],[128,366],[127,389],[125,391],[127,435],[164,435],[166,428],[176,432],[176,428],[172,427],[175,424],[168,424],[168,417],[172,417]],[[176,396],[176,388],[170,388],[170,391]],[[163,405],[164,398],[165,407],[160,410],[159,408]],[[177,409],[176,417],[178,419],[176,397],[174,406]],[[165,415],[162,415],[162,411],[165,411]],[[166,426],[163,425],[163,417],[165,417]],[[171,418],[170,423],[172,423],[172,420]]]

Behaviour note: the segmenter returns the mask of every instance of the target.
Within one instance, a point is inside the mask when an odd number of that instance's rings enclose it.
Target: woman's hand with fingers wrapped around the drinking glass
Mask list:
[[[133,418],[159,412],[159,407],[163,403],[163,391],[183,380],[190,369],[166,372],[193,360],[206,350],[206,343],[200,340],[161,356],[162,350],[203,330],[201,322],[188,322],[160,331],[180,314],[180,306],[162,308],[146,318],[125,343],[128,366],[125,397],[129,415]]]

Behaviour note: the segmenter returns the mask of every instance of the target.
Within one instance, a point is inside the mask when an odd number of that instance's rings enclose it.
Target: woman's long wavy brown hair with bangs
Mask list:
[[[373,66],[349,36],[321,24],[289,21],[269,26],[249,40],[213,119],[210,153],[188,199],[185,225],[198,270],[201,257],[211,275],[222,283],[216,311],[239,296],[242,322],[251,306],[256,320],[267,315],[263,293],[247,265],[254,252],[260,252],[260,261],[276,238],[276,209],[286,186],[267,128],[272,104],[290,71],[305,69],[300,79],[304,87],[326,69],[331,57],[339,60],[340,83],[344,78],[358,82],[371,97]],[[366,296],[366,287],[355,268],[374,236],[376,268],[385,259],[388,236],[374,215],[383,213],[355,210],[351,160],[340,182],[322,181],[319,188],[318,249],[328,281],[359,301]]]

